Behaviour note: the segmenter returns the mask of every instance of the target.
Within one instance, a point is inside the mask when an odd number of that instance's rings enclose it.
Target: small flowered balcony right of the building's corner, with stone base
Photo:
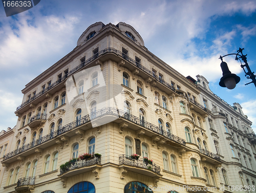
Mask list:
[[[128,170],[141,173],[145,176],[156,177],[160,175],[161,171],[160,166],[156,165],[155,163],[148,164],[144,162],[142,158],[132,159],[128,155],[119,155],[119,164],[130,165],[131,167],[127,167]],[[139,170],[138,167],[144,168],[145,170]]]

